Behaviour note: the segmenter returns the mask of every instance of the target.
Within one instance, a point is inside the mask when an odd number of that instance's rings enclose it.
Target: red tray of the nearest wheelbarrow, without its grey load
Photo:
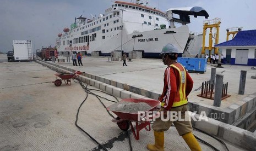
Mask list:
[[[159,105],[159,101],[149,100],[149,99],[126,98],[120,102],[134,102],[134,103],[144,102],[149,104],[149,106],[151,106],[151,108],[148,109],[148,111],[153,111]],[[113,105],[115,104],[112,104],[111,106]],[[111,106],[107,107],[108,111],[111,111],[110,110]],[[148,111],[142,111],[142,112],[148,112]],[[111,112],[115,113],[122,120],[138,121],[138,115],[139,115],[138,113],[127,113],[127,112],[120,112],[120,111],[111,111]]]

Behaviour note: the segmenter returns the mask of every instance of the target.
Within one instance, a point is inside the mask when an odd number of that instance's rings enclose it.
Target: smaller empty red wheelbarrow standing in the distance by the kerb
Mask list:
[[[62,80],[66,83],[66,85],[71,85],[71,79],[77,77],[78,75],[82,74],[84,72],[75,71],[73,73],[56,73],[56,80],[52,83],[54,83],[56,86],[61,86]],[[58,79],[61,78],[61,79]]]

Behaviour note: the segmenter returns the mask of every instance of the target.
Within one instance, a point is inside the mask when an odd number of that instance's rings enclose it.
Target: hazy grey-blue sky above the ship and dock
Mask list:
[[[124,0],[126,2],[134,2]],[[75,18],[104,14],[112,0],[0,0],[0,52],[12,51],[13,40],[32,40],[34,51],[54,47],[58,33]],[[145,4],[145,1],[143,1]],[[255,0],[148,0],[148,7],[166,11],[177,7],[203,7],[208,19],[220,18],[219,43],[226,41],[226,29],[256,29]],[[190,16],[189,30],[203,32],[203,17]],[[206,34],[207,37],[209,30]],[[232,37],[230,36],[229,39]],[[206,46],[208,42],[206,43]]]

